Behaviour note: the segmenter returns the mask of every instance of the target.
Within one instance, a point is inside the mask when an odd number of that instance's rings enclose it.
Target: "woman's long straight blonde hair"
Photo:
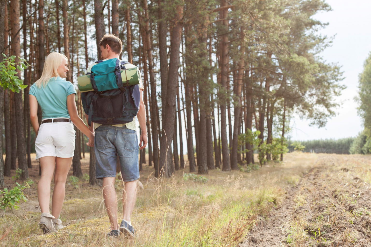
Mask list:
[[[67,57],[58,52],[52,52],[47,55],[45,62],[44,62],[44,69],[43,74],[41,75],[40,79],[35,82],[38,88],[46,86],[49,82],[50,78],[60,76],[57,69],[62,64],[63,58]]]

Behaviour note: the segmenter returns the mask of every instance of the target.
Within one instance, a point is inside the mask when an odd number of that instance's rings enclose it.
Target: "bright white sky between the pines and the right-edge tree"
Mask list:
[[[346,77],[342,84],[347,86],[339,100],[344,101],[336,110],[338,115],[328,120],[326,127],[309,127],[308,121],[295,117],[290,123],[292,140],[354,137],[363,130],[361,118],[357,115],[358,74],[371,51],[371,1],[369,0],[327,0],[332,11],[319,13],[315,19],[329,25],[321,30],[327,36],[335,36],[332,47],[322,56],[331,63],[339,63]]]

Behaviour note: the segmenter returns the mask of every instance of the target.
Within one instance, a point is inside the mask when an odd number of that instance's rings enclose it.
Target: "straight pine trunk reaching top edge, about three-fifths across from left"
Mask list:
[[[227,1],[221,0],[220,7],[226,7]],[[226,32],[229,29],[229,24],[227,20],[227,13],[228,9],[224,9],[220,11],[220,19],[222,19],[222,23],[224,26],[224,29],[222,32]],[[228,36],[224,34],[221,37],[220,42],[220,60],[221,60],[221,87],[223,89],[222,92],[219,91],[220,96],[219,99],[221,100],[220,105],[220,133],[221,133],[221,148],[222,148],[222,155],[223,155],[223,171],[230,171],[230,157],[229,157],[229,148],[228,148],[228,139],[227,139],[227,116],[226,116],[226,93],[224,92],[227,90],[227,83],[228,83],[228,64],[229,64],[229,58],[228,58],[228,49],[229,41]]]

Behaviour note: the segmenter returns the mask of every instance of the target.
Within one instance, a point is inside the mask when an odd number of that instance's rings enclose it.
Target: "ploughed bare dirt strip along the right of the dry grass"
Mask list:
[[[240,247],[371,246],[370,160],[319,156]]]

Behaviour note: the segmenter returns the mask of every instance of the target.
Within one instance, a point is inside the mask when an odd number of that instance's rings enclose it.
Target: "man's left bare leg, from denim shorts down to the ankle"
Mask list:
[[[103,178],[103,197],[104,204],[107,208],[109,221],[111,222],[111,230],[118,230],[117,222],[117,200],[115,191],[115,177]]]

